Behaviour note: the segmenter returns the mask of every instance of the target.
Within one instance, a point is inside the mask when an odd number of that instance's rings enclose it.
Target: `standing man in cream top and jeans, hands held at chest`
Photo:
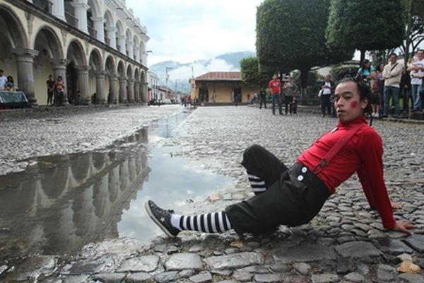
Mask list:
[[[400,117],[399,95],[401,92],[401,76],[404,67],[396,62],[396,53],[390,54],[390,62],[384,67],[384,111],[383,117],[388,117],[390,98],[393,98],[395,117]]]

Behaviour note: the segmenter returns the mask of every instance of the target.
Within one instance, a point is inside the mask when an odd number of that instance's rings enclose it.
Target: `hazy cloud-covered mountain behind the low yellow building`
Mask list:
[[[232,52],[221,54],[212,59],[198,60],[190,63],[179,63],[175,61],[164,61],[153,64],[149,70],[159,76],[159,84],[166,84],[166,68],[172,68],[168,71],[168,86],[175,90],[177,81],[177,91],[187,93],[190,89],[189,79],[193,76],[200,76],[209,71],[240,71],[240,59],[255,56],[255,52]]]

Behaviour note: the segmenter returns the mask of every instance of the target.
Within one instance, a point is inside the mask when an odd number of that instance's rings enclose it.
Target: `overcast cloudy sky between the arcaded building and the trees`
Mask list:
[[[262,0],[126,0],[146,25],[148,64],[209,59],[254,51],[257,6]]]

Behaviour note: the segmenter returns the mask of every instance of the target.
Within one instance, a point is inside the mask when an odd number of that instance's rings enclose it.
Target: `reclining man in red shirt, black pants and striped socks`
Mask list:
[[[395,220],[384,184],[382,139],[367,125],[370,88],[359,79],[346,78],[336,88],[338,125],[303,152],[292,168],[259,145],[250,146],[242,166],[255,196],[220,212],[182,216],[146,202],[146,211],[166,234],[180,231],[266,233],[280,225],[309,223],[336,187],[357,172],[371,209],[376,209],[385,229],[412,234],[409,221]]]

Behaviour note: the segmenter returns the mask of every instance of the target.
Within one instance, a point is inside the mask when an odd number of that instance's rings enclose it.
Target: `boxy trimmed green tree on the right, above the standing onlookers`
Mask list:
[[[367,50],[399,47],[405,38],[402,0],[331,0],[326,42],[333,48]]]

